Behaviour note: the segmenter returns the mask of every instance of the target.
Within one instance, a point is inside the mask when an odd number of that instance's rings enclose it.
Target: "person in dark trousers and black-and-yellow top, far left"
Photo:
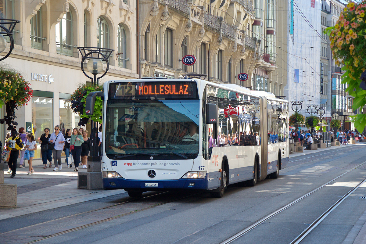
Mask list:
[[[8,167],[11,169],[10,177],[14,178],[16,174],[16,161],[19,157],[19,150],[23,148],[22,140],[20,140],[16,129],[12,129],[10,131],[10,137],[7,139],[5,146],[6,149],[10,151],[10,158],[8,162]]]

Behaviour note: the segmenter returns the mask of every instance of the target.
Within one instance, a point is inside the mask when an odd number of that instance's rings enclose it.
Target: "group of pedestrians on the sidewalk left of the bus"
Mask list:
[[[102,142],[102,127],[96,133],[98,144],[98,153],[101,155]],[[16,126],[5,136],[4,149],[10,151],[8,160],[8,174],[11,178],[15,177],[18,158],[20,158],[19,168],[25,168],[25,160],[28,161],[28,175],[34,173],[32,161],[37,150],[37,142],[40,144],[41,158],[44,169],[52,168],[52,158],[55,168],[53,171],[62,170],[61,153],[64,151],[66,155],[65,163],[67,168],[72,168],[74,161],[74,171],[79,170],[80,164],[82,168],[86,168],[87,156],[89,155],[92,143],[88,138],[88,131],[83,128],[67,129],[65,134],[61,132],[59,125],[54,127],[54,132],[51,133],[49,128],[44,129],[44,134],[39,138],[34,138],[34,135],[26,132],[24,127],[16,130]],[[1,143],[1,142],[0,142]]]

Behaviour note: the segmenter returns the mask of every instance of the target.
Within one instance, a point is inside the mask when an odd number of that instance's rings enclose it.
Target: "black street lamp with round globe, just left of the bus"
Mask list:
[[[109,70],[109,57],[111,56],[113,49],[109,48],[93,48],[87,46],[79,46],[79,52],[82,55],[81,59],[81,70],[83,71],[84,75],[91,79],[93,85],[99,85],[98,80],[105,76]],[[84,62],[87,60],[86,68],[87,70],[93,74],[93,77],[87,75],[84,70]],[[97,77],[103,71],[103,61],[105,61],[107,67],[103,74]],[[101,161],[101,157],[98,156],[98,144],[97,144],[97,123],[91,121],[91,142],[93,143],[90,149],[90,158],[89,161]]]

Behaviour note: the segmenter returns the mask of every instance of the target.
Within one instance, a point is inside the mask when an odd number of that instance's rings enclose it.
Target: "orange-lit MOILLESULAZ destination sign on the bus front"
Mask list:
[[[182,99],[197,95],[196,83],[186,81],[111,83],[109,88],[110,99]]]

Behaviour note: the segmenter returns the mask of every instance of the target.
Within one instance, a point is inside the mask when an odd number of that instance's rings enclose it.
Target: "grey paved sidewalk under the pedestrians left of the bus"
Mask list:
[[[10,178],[10,174],[4,172],[4,183],[17,184],[17,207],[0,208],[0,219],[55,209],[125,192],[124,190],[78,189],[78,173],[74,172],[74,168],[63,168],[56,172],[53,171],[54,167],[43,169],[43,166],[34,166],[33,168],[36,172],[32,175],[27,175],[28,167],[17,169],[15,178]],[[86,172],[86,170],[79,169],[79,172]]]

